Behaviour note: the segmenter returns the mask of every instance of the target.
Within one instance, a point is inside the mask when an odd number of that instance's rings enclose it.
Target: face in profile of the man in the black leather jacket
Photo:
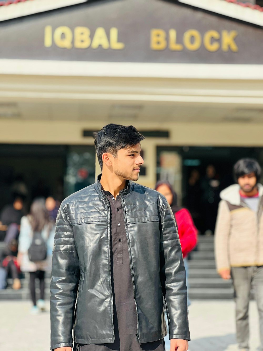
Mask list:
[[[112,158],[113,173],[123,179],[138,180],[140,167],[144,163],[140,152],[140,144],[119,150],[117,156]]]

